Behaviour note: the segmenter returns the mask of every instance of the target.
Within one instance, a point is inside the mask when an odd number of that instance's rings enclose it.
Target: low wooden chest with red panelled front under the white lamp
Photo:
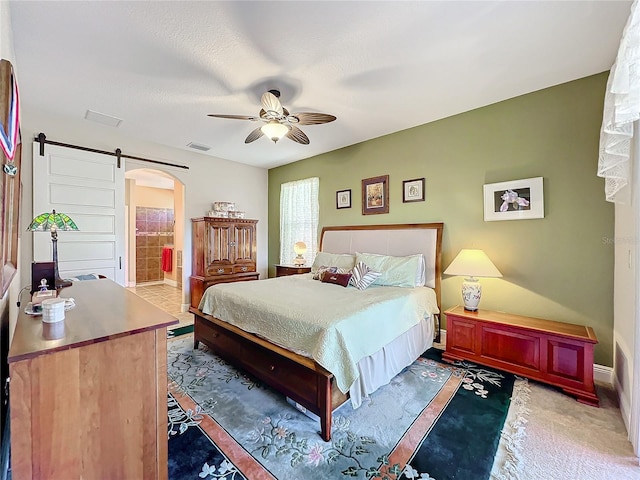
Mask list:
[[[445,360],[470,360],[549,383],[598,406],[593,383],[598,340],[591,327],[461,306],[444,313]]]

